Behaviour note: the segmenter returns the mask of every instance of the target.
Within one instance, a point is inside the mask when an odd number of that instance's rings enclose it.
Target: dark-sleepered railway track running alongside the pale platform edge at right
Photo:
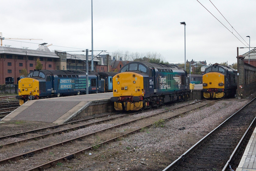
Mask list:
[[[255,98],[172,162],[163,171],[230,170],[248,131],[255,128]],[[252,131],[251,131],[252,132]],[[232,168],[235,169],[235,168]]]

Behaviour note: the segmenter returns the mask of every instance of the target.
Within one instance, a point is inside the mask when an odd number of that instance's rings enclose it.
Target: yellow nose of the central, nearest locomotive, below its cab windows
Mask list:
[[[143,107],[143,76],[122,72],[113,77],[113,97],[116,110],[133,111]]]

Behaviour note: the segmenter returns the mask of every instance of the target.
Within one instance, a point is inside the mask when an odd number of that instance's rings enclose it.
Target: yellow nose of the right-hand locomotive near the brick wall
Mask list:
[[[224,96],[224,75],[209,72],[203,75],[203,94],[205,98],[221,98]]]

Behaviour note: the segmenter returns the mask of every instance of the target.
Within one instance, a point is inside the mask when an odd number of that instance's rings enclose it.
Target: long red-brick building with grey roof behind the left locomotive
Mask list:
[[[48,49],[46,43],[41,44],[37,50],[20,49],[0,46],[0,84],[17,84],[20,80],[20,71],[24,68],[27,72],[33,71],[36,60],[40,59],[42,69],[48,70],[86,70],[86,56],[81,54],[66,53],[61,50]],[[108,59],[108,60],[107,60]],[[88,56],[89,71],[91,71],[91,56]],[[111,70],[111,56],[94,56],[94,71]],[[102,68],[102,69],[101,69]],[[104,68],[104,69],[103,69]]]

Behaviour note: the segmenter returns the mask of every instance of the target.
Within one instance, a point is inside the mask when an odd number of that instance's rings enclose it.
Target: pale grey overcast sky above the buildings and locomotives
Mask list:
[[[236,47],[249,47],[248,35],[255,47],[255,0],[211,0],[233,28],[209,0],[198,1],[93,0],[93,49],[157,52],[169,63],[184,63],[183,21],[187,24],[186,60],[235,63]],[[6,39],[3,46],[37,49],[46,42],[53,44],[50,50],[91,50],[91,0],[2,1],[0,16],[3,37],[43,39]],[[239,49],[239,55],[248,50]]]

